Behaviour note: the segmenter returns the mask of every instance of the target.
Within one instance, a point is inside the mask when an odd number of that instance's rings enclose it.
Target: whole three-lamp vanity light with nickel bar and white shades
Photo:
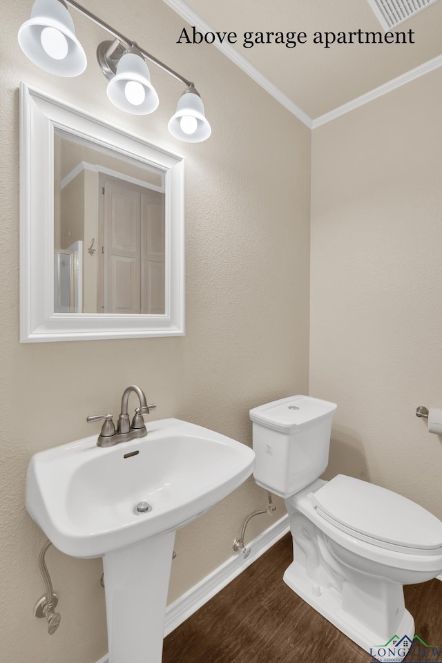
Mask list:
[[[23,23],[18,35],[21,50],[34,64],[58,76],[78,76],[86,69],[86,55],[75,36],[67,5],[113,36],[113,41],[99,44],[97,59],[109,81],[108,98],[117,108],[133,115],[147,115],[156,110],[159,99],[151,84],[146,64],[149,60],[186,86],[169,122],[171,134],[191,143],[209,138],[211,127],[194,84],[75,0],[35,0],[31,17]]]

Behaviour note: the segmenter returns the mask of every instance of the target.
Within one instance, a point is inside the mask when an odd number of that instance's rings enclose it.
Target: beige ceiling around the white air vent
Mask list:
[[[413,30],[414,44],[314,44],[315,32],[384,32],[367,0],[165,0],[198,27],[236,32],[227,46],[251,64],[308,119],[352,102],[374,88],[419,67],[442,53],[442,1],[438,0],[393,32]],[[196,15],[196,16],[195,16]],[[192,20],[193,19],[193,20]],[[307,43],[256,44],[244,48],[244,32],[305,32]],[[245,59],[245,62],[244,62]],[[240,63],[239,63],[240,64]],[[437,62],[442,65],[441,61]],[[244,67],[243,67],[244,68]],[[278,95],[276,95],[278,96]],[[287,104],[286,104],[287,105]]]

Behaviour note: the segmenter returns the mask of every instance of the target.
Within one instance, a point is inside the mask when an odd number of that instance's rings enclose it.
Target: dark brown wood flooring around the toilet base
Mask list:
[[[282,581],[291,560],[287,534],[164,639],[163,663],[369,663]],[[405,587],[405,604],[416,633],[442,646],[442,582]]]

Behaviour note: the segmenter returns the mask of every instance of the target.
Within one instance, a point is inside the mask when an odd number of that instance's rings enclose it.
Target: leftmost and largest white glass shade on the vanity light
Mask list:
[[[71,77],[86,69],[86,54],[75,37],[74,21],[59,0],[35,0],[18,39],[30,61],[51,74]]]

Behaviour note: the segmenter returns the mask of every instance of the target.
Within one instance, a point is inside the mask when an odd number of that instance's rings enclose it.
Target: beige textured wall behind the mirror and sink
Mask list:
[[[49,637],[32,615],[44,593],[37,566],[44,535],[24,508],[30,456],[91,434],[86,416],[117,413],[131,383],[157,403],[156,418],[178,416],[246,444],[250,407],[307,390],[310,132],[215,48],[175,44],[183,21],[162,1],[90,0],[91,11],[196,81],[213,135],[198,145],[177,142],[166,125],[184,86],[152,66],[158,111],[150,117],[118,111],[95,64],[95,48],[106,34],[75,10],[86,73],[46,75],[17,44],[31,6],[18,0],[2,15],[0,651],[8,663],[95,663],[107,651],[100,560],[51,548],[59,631]],[[21,79],[185,155],[184,338],[19,344]],[[249,479],[178,532],[171,599],[231,555],[242,520],[266,501]],[[280,501],[278,507],[277,516]],[[266,517],[255,519],[247,533],[267,526]]]

